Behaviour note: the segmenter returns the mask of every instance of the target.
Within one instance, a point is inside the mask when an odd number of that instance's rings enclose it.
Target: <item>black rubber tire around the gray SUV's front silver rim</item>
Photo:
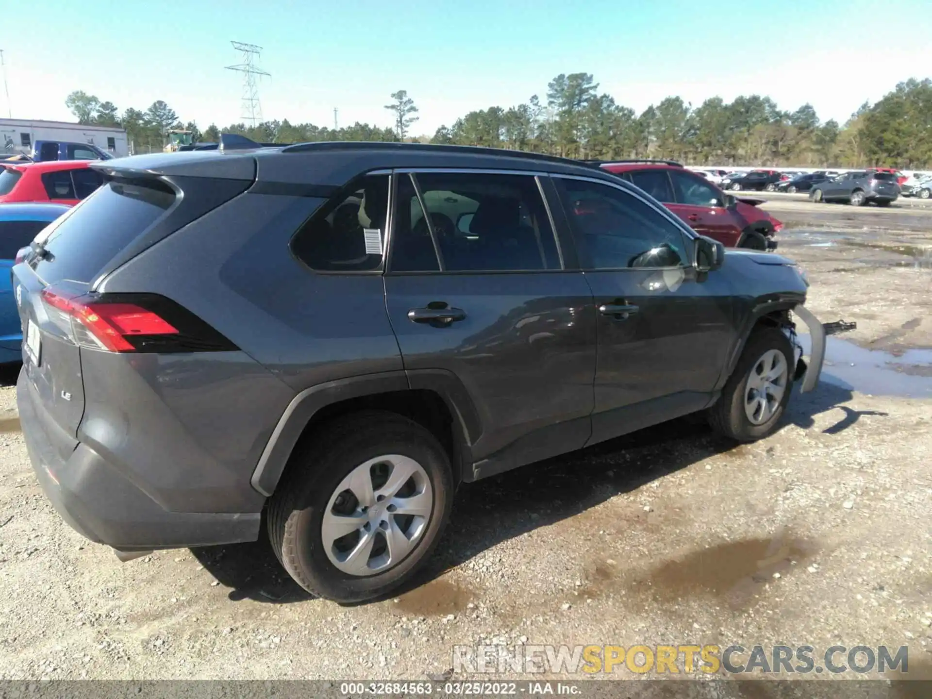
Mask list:
[[[755,425],[745,412],[747,378],[761,356],[770,349],[778,349],[787,360],[787,386],[774,415],[761,425]],[[789,402],[793,388],[793,346],[783,331],[774,327],[760,327],[747,338],[741,358],[732,376],[725,383],[718,402],[708,408],[706,416],[712,429],[738,442],[755,442],[774,432]]]

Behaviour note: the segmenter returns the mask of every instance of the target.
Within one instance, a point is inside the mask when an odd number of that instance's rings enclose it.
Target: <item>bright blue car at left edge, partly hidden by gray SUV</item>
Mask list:
[[[62,204],[0,204],[0,363],[22,361],[22,326],[9,272],[17,251],[69,209]]]

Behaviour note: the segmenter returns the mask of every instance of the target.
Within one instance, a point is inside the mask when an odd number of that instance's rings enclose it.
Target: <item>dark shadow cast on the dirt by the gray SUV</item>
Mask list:
[[[816,415],[838,407],[843,411],[839,422],[823,431],[836,434],[855,424],[861,415],[876,414],[840,405],[851,397],[851,391],[826,383],[810,394],[797,393],[785,424],[811,429]],[[454,526],[447,528],[428,564],[392,596],[430,582],[500,541],[580,514],[615,495],[734,447],[732,441],[711,432],[704,419],[688,416],[464,484],[454,504]],[[213,546],[192,553],[230,588],[230,599],[288,603],[311,598],[281,569],[264,530],[255,543]]]

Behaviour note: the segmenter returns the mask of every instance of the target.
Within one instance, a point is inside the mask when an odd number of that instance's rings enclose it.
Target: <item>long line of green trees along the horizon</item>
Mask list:
[[[698,106],[667,97],[640,114],[598,91],[588,73],[557,75],[544,99],[490,106],[442,126],[432,137],[410,137],[418,107],[404,90],[392,93],[386,109],[394,128],[356,122],[340,129],[287,119],[243,123],[201,132],[182,122],[162,101],[119,114],[110,102],[73,92],[66,104],[80,123],[122,126],[137,152],[159,150],[165,131],[187,129],[199,141],[221,132],[240,133],[262,143],[306,141],[425,141],[485,145],[567,158],[672,158],[696,165],[809,167],[932,167],[932,80],[911,78],[876,103],[863,103],[843,124],[821,121],[811,104],[783,111],[761,95],[731,103],[711,97]]]

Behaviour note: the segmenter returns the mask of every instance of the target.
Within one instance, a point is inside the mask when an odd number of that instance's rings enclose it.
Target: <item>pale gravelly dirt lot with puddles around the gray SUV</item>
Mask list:
[[[858,323],[784,427],[678,420],[463,487],[376,603],[308,598],[264,542],[118,563],[43,497],[0,389],[0,678],[424,679],[480,643],[908,645],[930,673],[932,208],[770,199],[810,308]]]

